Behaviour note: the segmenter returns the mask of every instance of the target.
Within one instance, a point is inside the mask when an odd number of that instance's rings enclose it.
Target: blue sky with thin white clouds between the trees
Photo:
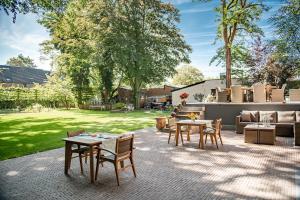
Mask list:
[[[225,69],[221,66],[209,65],[210,59],[215,55],[216,49],[222,44],[213,44],[216,37],[217,22],[214,8],[219,0],[201,3],[193,0],[166,0],[174,4],[180,11],[181,22],[178,24],[193,52],[190,54],[191,65],[199,68],[206,78],[219,77]],[[281,0],[264,0],[270,7],[258,22],[266,38],[272,38],[273,31],[268,22],[282,5]],[[16,23],[12,16],[7,16],[0,10],[0,64],[13,56],[22,53],[34,59],[40,69],[50,70],[50,60],[40,52],[40,43],[49,39],[48,31],[38,24],[39,16],[35,14],[17,15]]]

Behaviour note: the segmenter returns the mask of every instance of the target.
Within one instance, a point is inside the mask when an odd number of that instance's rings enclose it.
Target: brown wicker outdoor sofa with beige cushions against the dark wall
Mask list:
[[[276,136],[294,137],[300,146],[300,111],[242,111],[236,117],[236,133],[242,134],[248,124],[263,123],[264,117],[276,125]]]

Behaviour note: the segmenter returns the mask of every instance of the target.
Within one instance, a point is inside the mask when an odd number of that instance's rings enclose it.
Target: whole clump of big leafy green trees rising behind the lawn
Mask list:
[[[144,85],[163,81],[179,63],[189,62],[179,11],[159,0],[73,0],[63,15],[49,12],[40,22],[51,35],[44,44],[60,52],[78,97],[81,83],[98,83],[109,96],[118,79],[129,83],[138,107]]]

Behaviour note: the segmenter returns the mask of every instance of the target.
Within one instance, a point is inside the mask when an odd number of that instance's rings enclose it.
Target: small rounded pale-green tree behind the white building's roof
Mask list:
[[[191,65],[184,65],[177,69],[177,74],[173,77],[175,85],[190,85],[199,81],[203,81],[202,72]]]

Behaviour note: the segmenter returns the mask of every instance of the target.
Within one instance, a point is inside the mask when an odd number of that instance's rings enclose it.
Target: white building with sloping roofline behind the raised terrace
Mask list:
[[[232,79],[232,84],[239,84],[237,79]],[[180,94],[188,93],[189,97],[187,98],[187,103],[197,103],[196,100],[197,95],[203,95],[204,97],[208,95],[214,95],[216,92],[216,88],[226,88],[226,81],[224,79],[211,79],[200,81],[191,85],[187,85],[182,88],[172,90],[172,104],[178,105],[181,103]]]

